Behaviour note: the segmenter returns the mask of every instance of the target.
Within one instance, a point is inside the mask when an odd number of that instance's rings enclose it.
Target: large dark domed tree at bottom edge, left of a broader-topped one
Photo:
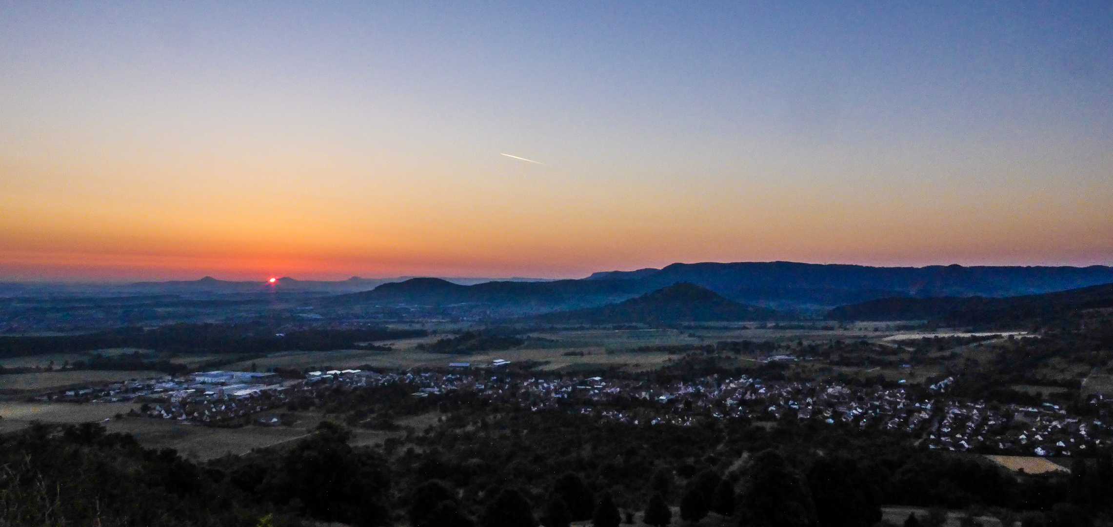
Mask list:
[[[775,450],[754,457],[737,515],[747,527],[808,527],[816,518],[804,478]]]

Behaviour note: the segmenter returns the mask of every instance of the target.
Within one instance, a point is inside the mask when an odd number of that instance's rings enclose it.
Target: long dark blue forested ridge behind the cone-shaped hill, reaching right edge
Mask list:
[[[595,273],[584,280],[486,282],[457,285],[412,279],[372,291],[323,300],[333,305],[482,303],[533,312],[621,302],[679,282],[728,300],[779,310],[825,309],[896,296],[1015,296],[1113,282],[1113,267],[1004,267],[935,265],[869,267],[795,262],[672,264],[661,270]]]

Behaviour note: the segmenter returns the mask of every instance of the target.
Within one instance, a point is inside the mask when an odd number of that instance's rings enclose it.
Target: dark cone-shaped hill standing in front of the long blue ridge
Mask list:
[[[678,283],[617,304],[548,313],[535,319],[550,323],[657,325],[678,322],[771,320],[777,315],[774,310],[740,304],[696,284]]]

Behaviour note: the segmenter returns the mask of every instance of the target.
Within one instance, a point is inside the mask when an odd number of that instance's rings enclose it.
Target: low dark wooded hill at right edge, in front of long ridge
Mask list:
[[[1113,308],[1113,283],[1055,293],[986,296],[877,299],[830,310],[830,320],[934,320],[961,324],[1016,323],[1072,311]]]

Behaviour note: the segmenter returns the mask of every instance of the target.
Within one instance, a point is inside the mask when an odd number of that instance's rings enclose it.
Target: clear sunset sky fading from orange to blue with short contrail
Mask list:
[[[1111,265],[1110,28],[1107,1],[2,2],[0,279]]]

